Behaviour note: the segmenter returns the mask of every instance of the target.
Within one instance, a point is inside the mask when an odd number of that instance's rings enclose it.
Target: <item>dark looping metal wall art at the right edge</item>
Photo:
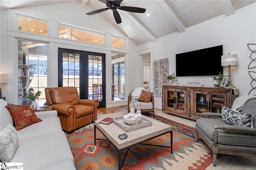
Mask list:
[[[247,47],[250,49],[250,51],[252,51],[250,56],[249,56],[250,59],[252,59],[252,61],[249,63],[248,69],[254,69],[255,70],[255,68],[256,68],[256,63],[255,63],[256,62],[256,49],[252,50],[249,47],[249,45],[253,46],[255,48],[256,44],[255,43],[248,43],[247,44]],[[254,57],[252,56],[252,54],[254,54]],[[252,81],[250,83],[250,85],[252,86],[252,89],[249,91],[248,95],[256,95],[256,86],[253,87],[253,84],[254,85],[256,84],[256,77],[254,77],[256,72],[255,71],[248,71],[248,72],[249,72],[250,77],[252,78]],[[251,94],[253,91],[254,91],[254,94]]]

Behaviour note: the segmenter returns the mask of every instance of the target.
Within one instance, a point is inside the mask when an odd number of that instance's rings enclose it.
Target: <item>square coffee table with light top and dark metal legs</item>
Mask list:
[[[117,155],[118,155],[118,170],[121,169],[122,164],[124,163],[126,154],[130,147],[136,144],[143,144],[143,142],[146,142],[158,136],[162,136],[166,133],[170,133],[171,146],[161,146],[161,147],[171,148],[171,154],[172,154],[172,127],[170,125],[167,125],[165,123],[162,123],[155,119],[151,119],[146,116],[143,116],[143,117],[148,120],[151,120],[152,126],[140,128],[137,130],[132,130],[130,132],[124,131],[121,127],[119,127],[115,123],[110,123],[109,125],[100,124],[100,120],[105,119],[106,117],[114,118],[114,117],[120,117],[120,116],[122,116],[122,113],[110,113],[106,115],[99,115],[97,121],[94,122],[94,144],[96,144],[96,139],[102,140],[102,139],[96,138],[96,128],[97,128],[108,139],[108,141],[110,141],[115,146],[117,150]],[[124,133],[128,135],[128,138],[120,140],[120,138],[118,138],[118,135],[124,134]],[[159,145],[152,145],[152,144],[146,144],[146,145],[159,146]],[[121,163],[122,153],[126,149],[127,149],[126,154]]]

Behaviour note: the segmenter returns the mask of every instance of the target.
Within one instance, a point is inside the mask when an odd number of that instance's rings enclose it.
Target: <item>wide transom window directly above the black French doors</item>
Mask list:
[[[104,34],[59,26],[59,37],[104,45]]]

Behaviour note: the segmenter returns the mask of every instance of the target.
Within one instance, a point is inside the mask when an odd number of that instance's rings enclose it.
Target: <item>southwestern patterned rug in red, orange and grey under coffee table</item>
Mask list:
[[[194,128],[168,119],[155,119],[172,126],[173,154],[170,153],[170,148],[138,144],[128,151],[122,170],[204,170],[212,163],[211,150],[204,142],[195,141]],[[76,169],[118,169],[116,148],[106,140],[96,140],[94,145],[93,126],[86,125],[72,134],[66,134]],[[105,139],[99,131],[96,135]],[[170,134],[149,140],[148,143],[170,146]]]

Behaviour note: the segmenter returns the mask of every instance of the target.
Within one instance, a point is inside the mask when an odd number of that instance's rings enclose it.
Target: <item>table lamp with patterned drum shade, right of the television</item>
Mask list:
[[[232,85],[232,83],[231,83],[230,67],[231,67],[231,65],[237,65],[237,56],[236,56],[236,54],[228,53],[228,55],[222,55],[221,56],[221,65],[222,66],[228,66],[228,87],[235,88],[235,86]]]

